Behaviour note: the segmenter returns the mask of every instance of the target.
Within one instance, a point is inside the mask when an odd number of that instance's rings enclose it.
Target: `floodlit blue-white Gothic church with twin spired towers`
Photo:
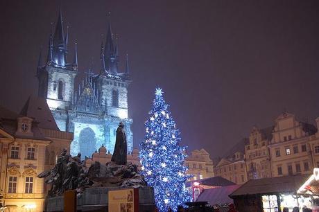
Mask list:
[[[46,63],[39,58],[38,96],[45,98],[60,130],[74,132],[71,155],[81,152],[83,159],[104,145],[111,153],[119,122],[126,127],[128,152],[132,152],[132,119],[128,118],[128,57],[126,70],[119,70],[117,42],[109,24],[105,45],[101,44],[101,67],[97,74],[87,71],[87,77],[75,87],[78,75],[77,44],[74,60],[69,62],[69,32],[64,33],[62,12],[55,33],[49,36]],[[41,56],[41,54],[40,54]]]

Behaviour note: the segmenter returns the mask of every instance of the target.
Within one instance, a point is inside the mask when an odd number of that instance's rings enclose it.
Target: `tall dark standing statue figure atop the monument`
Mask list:
[[[128,159],[128,147],[126,142],[126,133],[123,122],[119,123],[117,127],[117,139],[115,141],[115,148],[111,161],[117,165],[126,165]]]

